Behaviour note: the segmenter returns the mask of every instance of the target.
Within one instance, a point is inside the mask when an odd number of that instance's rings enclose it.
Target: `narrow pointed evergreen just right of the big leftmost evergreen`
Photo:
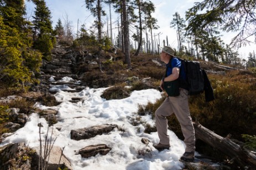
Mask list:
[[[43,53],[46,61],[51,59],[51,50],[56,43],[55,32],[51,26],[51,12],[44,0],[34,0],[35,16],[33,16],[34,48]]]

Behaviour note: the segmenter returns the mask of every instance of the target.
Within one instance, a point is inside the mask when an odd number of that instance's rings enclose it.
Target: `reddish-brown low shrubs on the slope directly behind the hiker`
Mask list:
[[[205,102],[203,94],[190,96],[190,112],[206,128],[223,137],[243,140],[241,134],[254,135],[256,127],[256,74],[247,71],[229,71],[225,76],[209,74],[215,100]],[[155,103],[139,106],[138,114],[151,114],[161,105],[165,97]],[[180,124],[175,116],[168,117],[169,128],[183,138]],[[244,138],[245,139],[245,138]],[[247,138],[249,139],[249,138]],[[250,138],[254,140],[255,138]]]

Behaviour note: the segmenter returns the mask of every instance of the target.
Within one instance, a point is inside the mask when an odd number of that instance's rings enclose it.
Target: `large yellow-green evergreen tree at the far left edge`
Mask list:
[[[24,3],[1,1],[0,14],[0,80],[24,90],[34,82],[30,71],[39,71],[41,54],[30,48],[29,23],[22,17]]]

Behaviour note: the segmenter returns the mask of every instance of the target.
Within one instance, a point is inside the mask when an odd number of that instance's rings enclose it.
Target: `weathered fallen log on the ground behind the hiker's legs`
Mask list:
[[[197,139],[220,150],[245,169],[254,169],[256,167],[256,155],[251,151],[245,149],[243,146],[237,145],[229,138],[223,138],[222,136],[215,134],[213,131],[203,127],[200,123],[196,122],[193,124]]]

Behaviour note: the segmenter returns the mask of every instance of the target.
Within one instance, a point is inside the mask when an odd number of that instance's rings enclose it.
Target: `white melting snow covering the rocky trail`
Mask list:
[[[53,77],[49,79],[55,81]],[[72,78],[64,77],[59,81],[68,82]],[[77,83],[80,83],[77,81]],[[39,109],[54,109],[58,111],[56,115],[58,123],[53,127],[53,140],[55,146],[64,149],[64,155],[70,160],[74,170],[84,169],[102,169],[102,170],[160,170],[160,169],[182,169],[184,164],[179,158],[185,152],[185,144],[179,140],[173,131],[168,130],[170,135],[170,149],[159,152],[154,149],[153,144],[158,144],[159,138],[156,132],[144,133],[143,125],[133,126],[130,118],[138,111],[138,104],[147,105],[148,102],[155,102],[161,97],[158,90],[148,89],[133,91],[130,97],[121,100],[106,100],[101,95],[107,88],[90,89],[86,87],[80,92],[64,92],[62,90],[70,89],[67,85],[52,85],[50,91],[55,91],[56,100],[61,104],[58,106],[47,107],[41,103],[35,103]],[[77,103],[69,102],[72,97],[81,97],[83,101]],[[154,125],[151,116],[142,116],[142,120]],[[30,147],[40,145],[39,127],[41,123],[41,136],[46,135],[48,123],[44,118],[32,113],[23,128],[18,129],[11,136],[4,139],[2,144],[7,145],[14,142],[25,142]],[[70,131],[80,128],[87,128],[93,125],[117,124],[123,127],[125,131],[119,131],[114,128],[110,133],[97,135],[94,138],[86,140],[72,140]],[[49,131],[51,131],[51,128]],[[60,130],[58,130],[61,128]],[[147,138],[151,142],[149,148],[151,152],[145,156],[139,156],[138,150],[143,149],[145,145],[141,142],[142,138]],[[42,142],[44,144],[44,140]],[[95,157],[82,158],[76,155],[75,151],[89,145],[106,144],[112,150],[105,156],[96,155]],[[198,153],[195,153],[198,155]]]

